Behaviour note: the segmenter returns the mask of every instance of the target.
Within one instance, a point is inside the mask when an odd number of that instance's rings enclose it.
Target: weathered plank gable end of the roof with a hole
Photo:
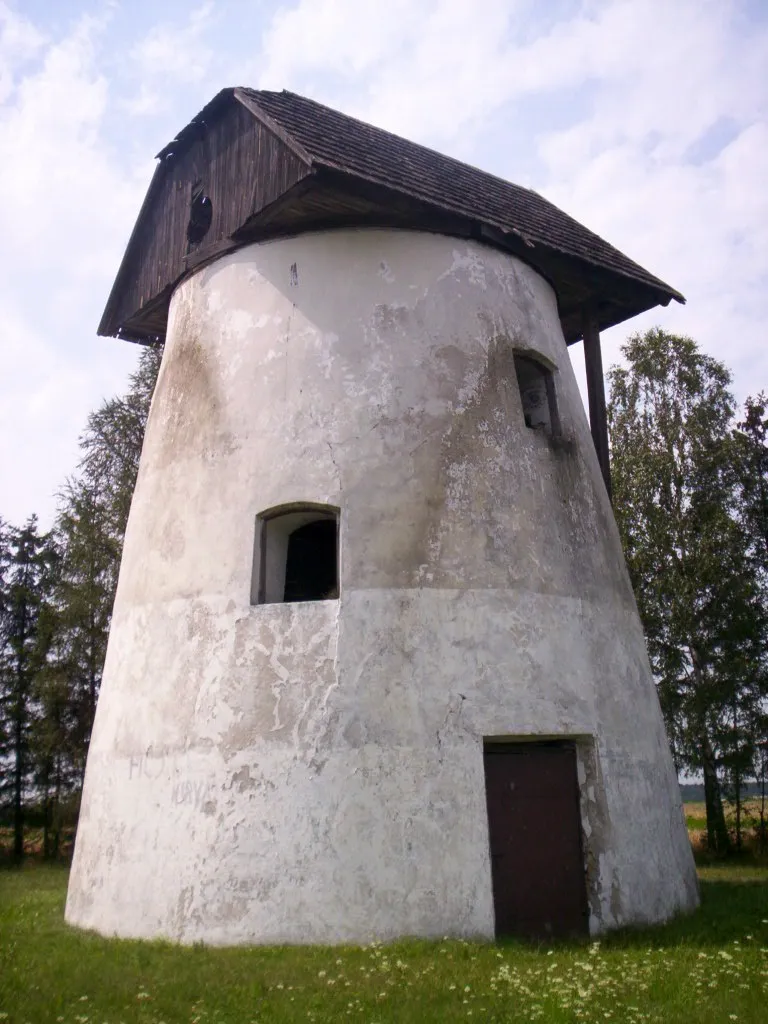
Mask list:
[[[180,152],[166,152],[162,158],[99,334],[114,335],[122,328],[128,338],[151,340],[155,327],[162,334],[167,300],[161,316],[157,300],[169,299],[168,289],[207,256],[236,248],[230,240],[238,228],[310,173],[295,152],[239,102],[227,103],[195,135],[183,140]],[[203,241],[190,245],[186,230],[197,184],[211,200],[212,221]]]

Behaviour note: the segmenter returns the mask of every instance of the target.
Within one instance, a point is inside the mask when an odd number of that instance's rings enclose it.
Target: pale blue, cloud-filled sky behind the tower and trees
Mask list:
[[[0,0],[6,520],[51,523],[125,387],[137,348],[96,326],[154,155],[232,85],[535,188],[686,296],[606,368],[659,325],[768,390],[768,0]]]

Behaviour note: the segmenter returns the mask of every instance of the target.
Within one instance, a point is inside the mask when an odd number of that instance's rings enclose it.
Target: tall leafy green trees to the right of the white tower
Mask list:
[[[623,352],[627,366],[608,375],[616,520],[673,754],[703,775],[709,841],[722,851],[722,781],[738,788],[754,770],[766,696],[744,462],[757,456],[734,430],[728,371],[690,338],[656,329]]]

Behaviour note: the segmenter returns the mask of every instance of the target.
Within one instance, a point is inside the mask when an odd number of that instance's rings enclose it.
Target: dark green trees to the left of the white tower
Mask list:
[[[0,808],[20,859],[25,804],[44,850],[77,815],[123,536],[162,350],[140,353],[125,394],[87,420],[81,461],[49,535],[0,520]]]

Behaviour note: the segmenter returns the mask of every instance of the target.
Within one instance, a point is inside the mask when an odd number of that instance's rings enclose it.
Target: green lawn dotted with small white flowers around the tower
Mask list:
[[[708,867],[698,913],[600,943],[181,948],[63,924],[67,872],[0,871],[0,1021],[768,1021],[768,870]]]

